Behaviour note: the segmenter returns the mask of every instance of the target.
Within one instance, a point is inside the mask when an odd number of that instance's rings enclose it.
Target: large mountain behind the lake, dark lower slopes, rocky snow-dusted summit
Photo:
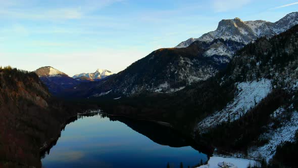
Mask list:
[[[78,87],[76,95],[120,97],[144,92],[177,92],[193,82],[214,76],[250,41],[262,35],[272,36],[298,23],[297,16],[290,13],[275,23],[243,22],[239,18],[222,20],[217,30],[204,34],[188,47],[156,50],[105,82],[88,85],[84,93],[79,93],[82,89]]]

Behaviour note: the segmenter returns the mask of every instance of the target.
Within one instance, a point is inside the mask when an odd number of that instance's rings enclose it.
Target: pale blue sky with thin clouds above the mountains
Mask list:
[[[116,73],[221,19],[275,22],[297,9],[297,0],[0,0],[0,65]]]

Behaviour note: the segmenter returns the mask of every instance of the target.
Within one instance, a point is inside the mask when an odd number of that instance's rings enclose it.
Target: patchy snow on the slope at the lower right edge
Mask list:
[[[284,111],[283,108],[279,108],[274,112],[274,115],[280,115]],[[271,131],[269,135],[261,135],[261,137],[269,137],[269,142],[264,146],[254,147],[250,149],[249,156],[258,158],[259,155],[266,158],[269,161],[275,154],[276,147],[283,142],[293,141],[295,132],[298,130],[298,112],[294,111],[289,121],[284,121],[282,126],[274,131]]]

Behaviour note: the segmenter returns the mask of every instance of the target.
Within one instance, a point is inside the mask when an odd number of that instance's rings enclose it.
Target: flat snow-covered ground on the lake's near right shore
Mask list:
[[[201,165],[197,168],[218,168],[218,163],[219,162],[228,162],[234,164],[234,166],[238,168],[246,168],[247,165],[255,165],[258,164],[259,162],[255,160],[250,160],[250,159],[243,159],[243,158],[234,158],[234,157],[220,157],[220,156],[212,156],[208,160],[208,163],[206,165]]]

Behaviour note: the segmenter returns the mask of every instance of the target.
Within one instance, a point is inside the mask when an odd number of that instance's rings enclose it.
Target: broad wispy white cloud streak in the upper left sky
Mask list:
[[[115,3],[123,2],[124,0],[85,0],[80,3],[73,1],[65,1],[68,5],[56,7],[41,7],[37,1],[3,1],[0,0],[0,17],[13,19],[28,19],[28,20],[68,20],[81,19],[87,16],[90,12],[100,10]],[[53,0],[51,4],[55,4]],[[57,1],[60,2],[60,1]],[[59,3],[57,3],[59,4]]]

